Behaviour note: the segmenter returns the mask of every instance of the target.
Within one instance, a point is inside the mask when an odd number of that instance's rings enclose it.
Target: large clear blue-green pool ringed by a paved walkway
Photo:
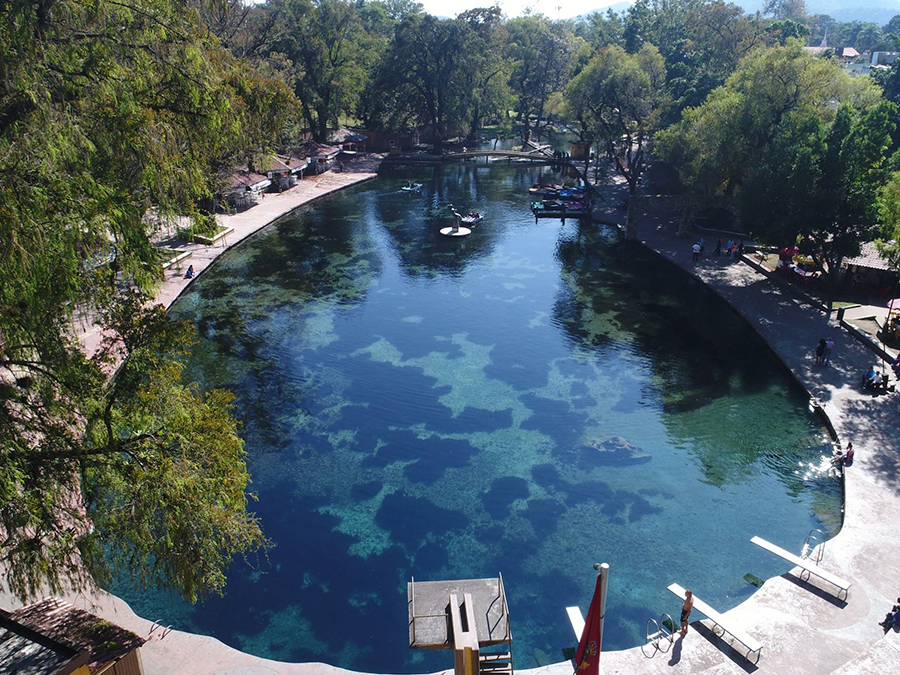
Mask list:
[[[301,208],[173,307],[190,376],[237,395],[273,546],[190,606],[113,590],[149,619],[253,654],[401,673],[406,582],[503,574],[517,668],[561,660],[565,607],[611,567],[605,649],[679,602],[721,609],[840,527],[801,392],[726,305],[604,226],[535,222],[546,169],[396,172]],[[422,194],[402,193],[407,179]],[[443,204],[485,213],[438,234]]]

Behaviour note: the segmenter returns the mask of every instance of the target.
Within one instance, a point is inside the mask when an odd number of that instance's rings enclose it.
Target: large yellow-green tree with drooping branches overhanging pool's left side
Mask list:
[[[182,384],[183,327],[112,289],[152,287],[148,215],[201,219],[211,162],[265,151],[289,92],[178,0],[6,2],[0,51],[6,584],[219,591],[232,554],[262,542],[228,397]],[[90,358],[76,311],[105,336]]]

